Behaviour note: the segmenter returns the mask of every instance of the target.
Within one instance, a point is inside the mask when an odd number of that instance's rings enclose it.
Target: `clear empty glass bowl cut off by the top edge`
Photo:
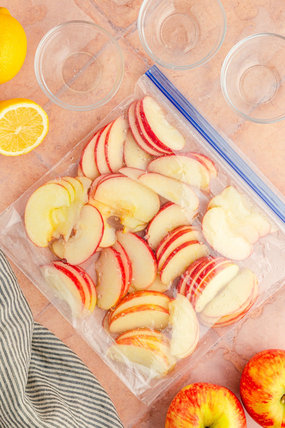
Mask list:
[[[138,35],[158,64],[185,70],[205,64],[220,49],[226,13],[220,0],[144,0]]]

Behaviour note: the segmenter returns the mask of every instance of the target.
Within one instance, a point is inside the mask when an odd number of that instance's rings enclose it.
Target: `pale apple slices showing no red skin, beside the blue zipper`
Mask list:
[[[211,247],[233,260],[250,257],[253,244],[271,231],[266,218],[232,186],[210,200],[202,228]]]

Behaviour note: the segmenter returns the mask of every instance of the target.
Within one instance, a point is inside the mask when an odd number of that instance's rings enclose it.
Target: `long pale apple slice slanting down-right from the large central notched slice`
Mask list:
[[[188,184],[156,172],[145,173],[138,180],[165,199],[180,205],[188,211],[197,212],[199,199]]]

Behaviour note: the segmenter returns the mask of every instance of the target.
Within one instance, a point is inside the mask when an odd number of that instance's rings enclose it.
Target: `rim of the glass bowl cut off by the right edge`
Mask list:
[[[226,58],[223,61],[223,65],[221,68],[221,72],[220,72],[220,85],[221,85],[221,89],[223,92],[223,96],[226,100],[226,102],[229,104],[229,107],[232,108],[232,110],[234,110],[235,112],[237,112],[240,116],[244,117],[245,119],[249,120],[250,122],[255,122],[255,123],[276,123],[276,122],[280,122],[281,120],[285,119],[285,113],[282,117],[279,118],[273,118],[273,119],[256,119],[253,118],[251,116],[247,116],[247,114],[241,112],[237,107],[235,107],[235,104],[232,103],[231,99],[229,98],[228,94],[227,94],[227,90],[226,90],[226,74],[229,68],[229,64],[230,64],[230,60],[232,58],[232,56],[235,55],[235,53],[239,50],[239,48],[241,48],[242,46],[246,45],[247,42],[251,39],[258,39],[258,38],[262,38],[262,37],[274,37],[274,38],[278,38],[278,39],[282,39],[285,42],[285,37],[281,36],[280,34],[275,34],[275,33],[256,33],[256,34],[252,34],[251,36],[247,36],[244,39],[240,40],[238,43],[236,43],[227,53]],[[285,44],[284,44],[285,46]]]

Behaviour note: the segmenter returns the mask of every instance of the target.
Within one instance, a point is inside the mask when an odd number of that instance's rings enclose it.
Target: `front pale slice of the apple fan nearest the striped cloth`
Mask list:
[[[59,270],[53,265],[43,265],[40,270],[46,282],[59,293],[62,300],[68,303],[73,315],[82,316],[85,309],[85,294],[76,276],[68,270]]]

